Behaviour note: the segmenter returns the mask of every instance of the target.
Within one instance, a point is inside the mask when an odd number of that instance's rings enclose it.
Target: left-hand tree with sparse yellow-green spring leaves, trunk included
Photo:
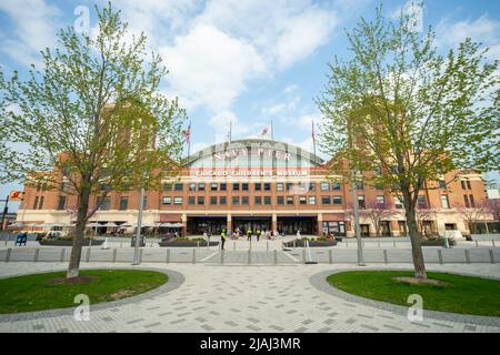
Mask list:
[[[11,156],[3,180],[64,183],[78,196],[68,277],[79,275],[86,224],[99,207],[90,209],[90,196],[156,189],[178,166],[186,121],[177,99],[159,90],[168,71],[147,53],[143,33],[129,37],[111,3],[96,11],[97,36],[62,29],[60,47],[41,52],[42,70],[1,80],[0,136]]]

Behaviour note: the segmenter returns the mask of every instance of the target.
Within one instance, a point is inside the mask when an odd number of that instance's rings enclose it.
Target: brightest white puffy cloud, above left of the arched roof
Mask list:
[[[246,82],[266,72],[254,48],[211,26],[197,26],[160,53],[171,90],[212,112],[228,110]]]

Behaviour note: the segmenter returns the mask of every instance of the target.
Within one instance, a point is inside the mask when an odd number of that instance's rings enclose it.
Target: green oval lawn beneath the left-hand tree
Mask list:
[[[86,294],[90,305],[130,297],[168,282],[168,276],[153,271],[88,270],[80,276],[97,280],[84,284],[49,284],[64,277],[64,272],[0,280],[0,314],[74,307],[74,296]]]

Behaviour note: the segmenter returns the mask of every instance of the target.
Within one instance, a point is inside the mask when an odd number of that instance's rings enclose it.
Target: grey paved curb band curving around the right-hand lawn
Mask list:
[[[408,307],[357,296],[357,295],[347,293],[344,291],[341,291],[337,287],[333,287],[332,285],[330,285],[327,282],[327,277],[332,274],[338,274],[341,272],[349,272],[349,271],[366,271],[366,270],[367,271],[411,271],[410,268],[401,268],[401,267],[391,267],[391,268],[379,268],[379,267],[359,268],[359,267],[356,267],[356,268],[331,270],[331,271],[323,271],[323,272],[313,274],[309,278],[309,282],[317,290],[326,292],[336,297],[339,297],[339,298],[342,298],[346,301],[350,301],[350,302],[360,303],[360,304],[376,307],[379,310],[389,311],[389,312],[392,312],[392,313],[396,313],[398,315],[402,315],[406,317],[408,315]],[[432,270],[429,270],[429,271],[432,271]],[[442,272],[442,271],[437,271],[437,272]],[[447,272],[447,273],[449,273],[449,272]],[[462,276],[479,277],[478,275],[471,275],[471,274],[461,274],[461,273],[453,273],[453,274],[462,275]],[[497,280],[493,277],[482,277],[482,278]],[[473,323],[473,324],[479,324],[479,325],[496,326],[496,327],[500,328],[500,317],[467,315],[467,314],[458,314],[458,313],[440,312],[440,311],[431,311],[431,310],[423,310],[423,317],[429,317],[429,318],[440,320],[440,321],[448,321],[448,322]]]

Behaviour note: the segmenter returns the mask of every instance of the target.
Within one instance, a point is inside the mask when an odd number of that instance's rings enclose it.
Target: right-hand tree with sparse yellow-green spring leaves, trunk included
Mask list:
[[[418,33],[414,20],[402,12],[388,20],[380,8],[372,21],[361,18],[347,33],[350,58],[329,64],[317,103],[320,145],[338,162],[331,166],[377,170],[373,181],[401,193],[414,275],[424,278],[419,191],[459,168],[499,166],[500,75],[479,43],[467,39],[442,55],[432,29]]]

